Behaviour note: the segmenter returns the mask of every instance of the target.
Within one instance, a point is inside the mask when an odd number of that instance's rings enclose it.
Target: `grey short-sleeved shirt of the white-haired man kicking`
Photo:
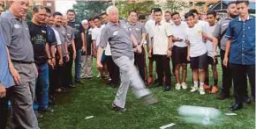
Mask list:
[[[112,22],[109,22],[102,30],[99,47],[106,47],[109,41],[112,58],[114,60],[121,56],[127,56],[132,60],[134,59],[134,54],[131,34],[131,26],[124,21],[120,20],[119,25],[114,25]]]

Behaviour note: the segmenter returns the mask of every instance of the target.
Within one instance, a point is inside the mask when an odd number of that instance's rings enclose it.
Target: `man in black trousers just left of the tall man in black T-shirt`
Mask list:
[[[73,85],[72,82],[72,65],[73,65],[73,60],[76,59],[76,47],[75,47],[75,35],[73,32],[73,28],[68,25],[68,19],[66,16],[63,17],[63,23],[62,25],[64,26],[66,30],[66,36],[67,36],[67,46],[68,46],[68,51],[70,53],[70,61],[67,61],[65,64],[65,72],[64,72],[64,87],[69,87],[69,88],[75,88],[75,85]]]

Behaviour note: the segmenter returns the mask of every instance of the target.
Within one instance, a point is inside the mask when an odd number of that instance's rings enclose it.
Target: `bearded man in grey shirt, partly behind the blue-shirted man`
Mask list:
[[[213,33],[214,39],[213,39],[213,44],[214,44],[214,50],[215,50],[215,55],[216,53],[216,48],[219,45],[220,50],[221,50],[221,60],[223,61],[224,59],[224,54],[226,50],[226,41],[227,38],[225,38],[225,34],[227,31],[227,28],[230,24],[230,21],[233,18],[237,18],[238,11],[237,11],[237,6],[236,6],[236,1],[235,2],[230,2],[228,4],[228,18],[222,18],[220,21],[216,24],[215,27],[215,32]],[[218,42],[220,43],[218,44]],[[219,96],[217,97],[220,100],[224,100],[227,97],[230,97],[230,88],[232,87],[232,77],[231,77],[231,70],[230,66],[228,64],[228,67],[225,67],[222,62],[222,91],[220,92]],[[245,101],[250,101],[248,100],[248,93],[245,90]]]

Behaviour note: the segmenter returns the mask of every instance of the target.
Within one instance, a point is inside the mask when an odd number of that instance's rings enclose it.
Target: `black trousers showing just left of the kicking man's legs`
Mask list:
[[[111,82],[117,84],[120,80],[119,68],[116,63],[113,61],[112,56],[106,55],[106,64],[109,70],[109,76],[111,78]]]

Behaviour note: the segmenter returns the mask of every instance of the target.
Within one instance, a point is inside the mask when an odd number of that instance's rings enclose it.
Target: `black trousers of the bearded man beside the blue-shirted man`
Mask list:
[[[228,67],[223,65],[225,51],[221,50],[221,60],[222,60],[222,93],[230,95],[230,88],[232,87],[232,75],[230,69],[230,63]]]

